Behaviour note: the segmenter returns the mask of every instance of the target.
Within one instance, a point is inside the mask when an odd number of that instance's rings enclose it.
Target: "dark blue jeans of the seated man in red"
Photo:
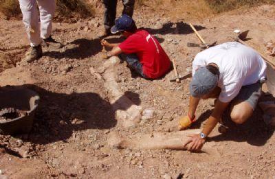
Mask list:
[[[126,61],[130,69],[133,69],[134,71],[142,75],[142,77],[147,78],[142,71],[142,64],[140,63],[140,60],[138,59],[135,53],[131,53],[131,54],[121,53],[118,57],[121,60]]]

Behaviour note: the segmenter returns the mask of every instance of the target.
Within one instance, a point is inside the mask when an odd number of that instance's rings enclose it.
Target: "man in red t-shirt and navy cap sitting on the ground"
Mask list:
[[[126,40],[120,44],[102,40],[104,47],[112,47],[107,51],[107,58],[120,56],[129,67],[142,77],[156,79],[165,75],[170,69],[170,60],[157,39],[145,30],[137,29],[130,16],[122,15],[111,27],[111,33],[120,32]]]

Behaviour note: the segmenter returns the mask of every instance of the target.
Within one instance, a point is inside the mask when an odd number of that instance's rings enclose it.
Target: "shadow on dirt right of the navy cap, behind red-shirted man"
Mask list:
[[[197,31],[201,29],[205,29],[206,27],[203,27],[201,25],[194,25],[195,29]],[[192,34],[193,30],[187,23],[184,22],[178,22],[178,23],[164,23],[161,28],[159,29],[152,29],[152,28],[146,28],[142,27],[143,29],[146,29],[150,34]]]

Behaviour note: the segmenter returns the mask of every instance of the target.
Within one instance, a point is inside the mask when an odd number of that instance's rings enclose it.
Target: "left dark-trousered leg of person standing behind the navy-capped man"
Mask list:
[[[111,34],[111,27],[115,25],[117,0],[103,0],[104,4],[104,29],[103,36]]]

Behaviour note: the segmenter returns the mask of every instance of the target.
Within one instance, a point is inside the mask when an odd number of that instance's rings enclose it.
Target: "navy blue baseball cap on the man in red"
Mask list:
[[[133,19],[130,16],[123,14],[115,20],[115,25],[111,27],[111,33],[116,34],[121,31],[126,31],[132,27]]]

